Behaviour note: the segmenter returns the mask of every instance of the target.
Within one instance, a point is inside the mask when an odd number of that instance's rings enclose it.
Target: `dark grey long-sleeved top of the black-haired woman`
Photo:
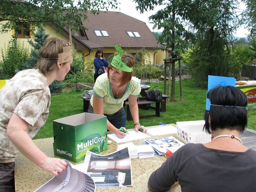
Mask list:
[[[166,191],[179,181],[182,192],[252,192],[255,178],[256,151],[222,151],[188,143],[150,175],[148,188]]]

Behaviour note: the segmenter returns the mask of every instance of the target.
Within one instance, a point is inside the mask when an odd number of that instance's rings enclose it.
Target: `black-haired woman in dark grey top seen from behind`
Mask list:
[[[182,192],[256,191],[256,151],[239,139],[247,124],[247,97],[236,87],[218,86],[208,92],[205,131],[214,138],[205,144],[188,143],[153,172],[151,191],[166,191],[176,181]]]

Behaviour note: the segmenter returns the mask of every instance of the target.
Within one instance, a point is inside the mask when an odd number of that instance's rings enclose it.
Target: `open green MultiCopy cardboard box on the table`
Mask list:
[[[73,162],[84,160],[87,150],[108,149],[107,117],[80,113],[53,121],[54,155]]]

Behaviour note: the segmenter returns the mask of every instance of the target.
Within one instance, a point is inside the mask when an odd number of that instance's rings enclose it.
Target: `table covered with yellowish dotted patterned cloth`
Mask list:
[[[176,127],[175,124],[170,124]],[[157,126],[147,127],[148,129]],[[111,132],[108,132],[110,134]],[[163,138],[168,136],[176,137],[176,134],[167,134],[167,135],[158,135],[152,136],[147,133],[150,139],[157,139]],[[177,137],[176,137],[177,138]],[[108,140],[111,140],[108,138]],[[48,157],[54,157],[53,153],[53,138],[45,138],[45,139],[36,139],[33,140],[38,148],[40,148]],[[112,140],[113,141],[113,140]],[[144,140],[133,140],[132,141],[135,145],[141,145]],[[120,144],[120,143],[118,143]],[[108,149],[101,152],[100,155],[107,155],[116,151],[117,143],[113,141],[110,145],[108,145]],[[57,157],[57,156],[55,156]],[[96,191],[108,191],[108,192],[117,192],[117,191],[149,191],[148,190],[148,178],[150,174],[156,170],[161,164],[166,160],[164,156],[155,155],[154,157],[139,159],[135,158],[132,159],[132,186],[129,187],[97,187]],[[37,166],[36,164],[32,163],[28,160],[25,156],[21,153],[15,159],[15,184],[16,184],[16,191],[34,191],[43,185],[45,182],[50,180],[53,175],[44,171],[42,168]],[[80,164],[79,163],[71,162],[72,164]],[[172,192],[180,192],[180,185],[177,184],[173,186],[169,191]]]

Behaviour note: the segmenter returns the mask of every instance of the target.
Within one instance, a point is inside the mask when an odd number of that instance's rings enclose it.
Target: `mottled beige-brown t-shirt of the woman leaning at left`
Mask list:
[[[50,104],[47,79],[38,69],[18,72],[0,89],[0,163],[13,162],[19,152],[6,135],[12,114],[30,124],[26,132],[33,138],[44,125]]]

